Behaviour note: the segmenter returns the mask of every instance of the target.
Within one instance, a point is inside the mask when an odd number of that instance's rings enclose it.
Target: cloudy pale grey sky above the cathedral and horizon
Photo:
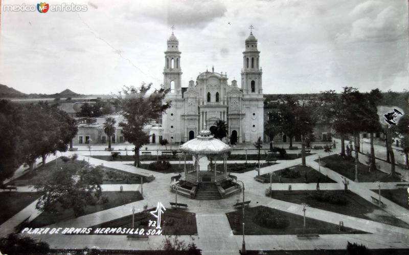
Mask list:
[[[3,0],[5,5],[37,5]],[[200,72],[240,84],[253,25],[265,94],[409,89],[407,0],[53,1],[86,11],[4,11],[0,84],[24,93],[117,93],[163,83],[171,26],[182,86]]]

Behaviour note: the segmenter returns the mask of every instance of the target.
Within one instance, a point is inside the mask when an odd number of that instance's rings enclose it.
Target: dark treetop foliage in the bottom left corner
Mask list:
[[[50,246],[31,237],[9,233],[0,239],[0,250],[3,254],[48,254]]]

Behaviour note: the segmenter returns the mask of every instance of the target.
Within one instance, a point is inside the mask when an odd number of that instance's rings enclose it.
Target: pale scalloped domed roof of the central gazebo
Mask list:
[[[188,154],[222,154],[230,152],[232,148],[219,139],[215,139],[206,129],[205,124],[205,129],[200,131],[197,138],[180,145],[179,150]]]

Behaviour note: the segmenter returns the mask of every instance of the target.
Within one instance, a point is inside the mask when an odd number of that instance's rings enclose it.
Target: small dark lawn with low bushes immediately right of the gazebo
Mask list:
[[[287,170],[286,170],[287,169]],[[281,169],[275,171],[276,175],[271,177],[272,183],[316,183],[317,180],[320,180],[320,183],[334,183],[335,181],[316,171],[314,168],[309,166],[297,165],[294,167],[289,167],[286,169]],[[261,177],[265,178],[265,182],[270,183],[270,175],[264,174]],[[280,182],[281,177],[281,182]],[[305,178],[307,177],[307,178]],[[307,181],[305,181],[305,179]]]

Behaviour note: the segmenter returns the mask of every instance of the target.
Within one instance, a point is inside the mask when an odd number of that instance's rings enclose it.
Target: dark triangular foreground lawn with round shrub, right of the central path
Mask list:
[[[269,228],[267,225],[260,224],[259,210],[266,210],[271,219],[278,219],[278,227]],[[234,235],[242,235],[242,210],[238,209],[226,214],[229,220],[230,227]],[[265,206],[256,206],[245,209],[245,235],[296,235],[303,231],[303,217],[285,211],[268,208]],[[267,217],[267,218],[268,218]],[[236,224],[235,224],[235,219]],[[345,233],[365,233],[356,229],[345,228],[343,231],[338,230],[338,225],[325,221],[306,218],[306,232],[319,234],[345,234]]]

